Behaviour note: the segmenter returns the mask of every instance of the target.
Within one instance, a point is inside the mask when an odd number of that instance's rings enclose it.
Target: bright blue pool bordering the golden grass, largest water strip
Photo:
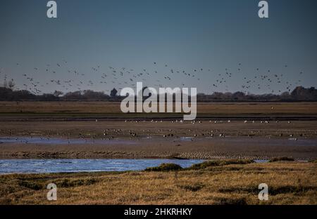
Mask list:
[[[98,171],[142,171],[163,163],[183,168],[203,160],[194,159],[0,159],[0,174],[5,173],[77,173]]]

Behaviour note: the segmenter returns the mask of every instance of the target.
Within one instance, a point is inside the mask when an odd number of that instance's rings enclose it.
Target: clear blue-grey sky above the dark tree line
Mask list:
[[[197,87],[282,93],[316,86],[317,1],[0,1],[0,84],[34,93]],[[120,73],[121,72],[121,73]],[[132,80],[131,80],[132,79]]]

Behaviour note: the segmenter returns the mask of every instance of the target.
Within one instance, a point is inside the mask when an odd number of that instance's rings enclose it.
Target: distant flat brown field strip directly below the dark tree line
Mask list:
[[[199,117],[310,116],[317,117],[316,102],[211,102],[197,103]],[[181,117],[181,114],[123,114],[120,102],[0,102],[0,119],[11,117]]]

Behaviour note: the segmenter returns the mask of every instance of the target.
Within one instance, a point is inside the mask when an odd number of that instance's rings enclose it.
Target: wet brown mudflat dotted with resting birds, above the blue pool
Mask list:
[[[317,121],[0,121],[8,158],[317,158]]]

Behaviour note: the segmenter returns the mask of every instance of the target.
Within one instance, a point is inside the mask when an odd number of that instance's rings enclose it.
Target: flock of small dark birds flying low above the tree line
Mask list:
[[[251,91],[268,91],[269,93],[281,93],[282,91],[292,91],[295,86],[299,86],[302,82],[301,77],[303,72],[298,72],[297,81],[288,81],[284,74],[274,74],[270,69],[254,69],[252,77],[244,76],[242,70],[242,63],[237,63],[236,69],[223,69],[222,73],[213,72],[211,69],[175,69],[171,68],[166,64],[159,65],[157,62],[152,63],[153,67],[149,69],[128,69],[126,67],[101,67],[97,65],[91,67],[90,71],[86,73],[81,72],[78,69],[70,67],[67,60],[62,60],[55,64],[46,64],[44,67],[34,67],[32,69],[36,74],[48,74],[43,78],[50,78],[48,81],[42,81],[35,79],[31,74],[22,74],[23,77],[23,88],[15,86],[15,90],[27,90],[35,95],[44,93],[43,89],[48,86],[53,87],[55,90],[69,92],[69,91],[85,91],[94,88],[96,84],[106,85],[107,88],[118,88],[119,90],[123,87],[135,87],[137,81],[154,81],[154,84],[147,84],[147,86],[154,87],[166,87],[166,84],[174,84],[175,86],[184,87],[186,85],[193,84],[194,82],[204,81],[204,77],[207,74],[213,75],[213,81],[210,81],[209,88],[212,92],[219,89],[224,89],[226,92],[230,91],[228,82],[237,80],[236,77],[242,79],[240,91],[244,93],[251,93]],[[17,67],[23,66],[20,63],[16,63]],[[287,68],[287,65],[283,67]],[[163,70],[158,70],[158,68]],[[0,68],[1,74],[5,83],[11,81],[11,85],[15,84],[13,79],[8,78],[8,74],[5,74],[3,69]],[[63,78],[66,76],[70,79],[58,79],[58,75],[63,74]],[[94,75],[94,81],[89,79],[91,75]],[[98,79],[99,77],[99,79]],[[96,79],[98,81],[96,81]],[[277,86],[276,86],[277,85]],[[273,86],[278,90],[274,90]],[[104,91],[109,92],[108,89]]]

